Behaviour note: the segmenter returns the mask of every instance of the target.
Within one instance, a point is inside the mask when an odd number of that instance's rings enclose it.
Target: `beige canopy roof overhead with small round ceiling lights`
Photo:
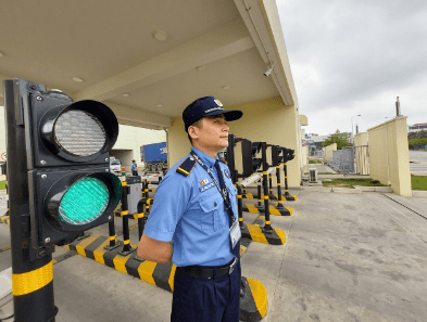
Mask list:
[[[273,10],[256,0],[7,1],[0,80],[102,101],[121,124],[151,129],[169,127],[204,95],[225,106],[275,95],[293,105],[277,9],[266,3]]]

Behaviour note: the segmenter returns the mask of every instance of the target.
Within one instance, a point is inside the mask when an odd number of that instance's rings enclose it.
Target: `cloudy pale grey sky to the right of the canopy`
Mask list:
[[[276,1],[305,133],[427,123],[427,1]]]

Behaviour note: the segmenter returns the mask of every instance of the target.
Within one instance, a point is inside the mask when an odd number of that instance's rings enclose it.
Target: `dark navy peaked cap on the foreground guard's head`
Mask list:
[[[188,127],[194,121],[198,121],[202,117],[223,114],[227,121],[239,119],[243,112],[231,110],[225,111],[223,108],[223,103],[216,100],[214,96],[204,96],[197,99],[190,105],[186,107],[183,112],[184,125],[186,127],[186,132],[188,132]]]

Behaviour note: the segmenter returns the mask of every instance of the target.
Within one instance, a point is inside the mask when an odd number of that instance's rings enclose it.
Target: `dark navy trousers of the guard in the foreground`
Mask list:
[[[222,268],[223,266],[193,268]],[[240,260],[231,274],[213,279],[194,278],[179,268],[175,271],[172,322],[239,322]]]

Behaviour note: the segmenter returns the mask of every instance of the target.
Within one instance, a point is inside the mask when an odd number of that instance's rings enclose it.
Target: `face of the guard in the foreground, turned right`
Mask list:
[[[198,145],[216,151],[228,146],[229,127],[224,115],[203,117],[202,126],[196,130]]]

